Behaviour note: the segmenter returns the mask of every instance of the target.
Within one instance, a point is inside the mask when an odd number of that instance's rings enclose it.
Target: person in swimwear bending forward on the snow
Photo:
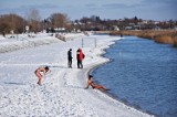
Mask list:
[[[44,66],[44,67],[39,67],[35,70],[34,74],[38,76],[39,81],[38,81],[38,84],[41,85],[42,84],[42,74],[43,73],[43,76],[46,75],[46,72],[50,71],[48,66]]]

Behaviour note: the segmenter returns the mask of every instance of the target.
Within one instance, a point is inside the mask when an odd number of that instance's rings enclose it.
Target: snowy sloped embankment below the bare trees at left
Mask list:
[[[62,35],[62,34],[61,34]],[[77,36],[82,36],[83,34],[64,34],[66,41],[72,40]],[[19,34],[14,35],[14,38],[10,38],[11,35],[8,35],[7,38],[0,36],[0,53],[4,52],[11,52],[20,49],[25,47],[35,47],[43,44],[50,44],[50,43],[58,43],[61,40],[55,38],[54,35],[51,36],[51,34],[35,34],[31,38],[28,36],[28,34]]]

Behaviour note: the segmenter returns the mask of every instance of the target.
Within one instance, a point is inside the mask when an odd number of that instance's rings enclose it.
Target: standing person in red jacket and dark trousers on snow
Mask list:
[[[83,68],[82,61],[85,57],[84,53],[82,52],[81,49],[76,51],[76,60],[77,60],[77,68]]]

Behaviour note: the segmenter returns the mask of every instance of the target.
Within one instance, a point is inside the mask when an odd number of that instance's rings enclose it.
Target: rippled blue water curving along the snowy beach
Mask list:
[[[111,94],[159,117],[177,117],[177,49],[125,36],[104,56],[112,61],[92,74]]]

